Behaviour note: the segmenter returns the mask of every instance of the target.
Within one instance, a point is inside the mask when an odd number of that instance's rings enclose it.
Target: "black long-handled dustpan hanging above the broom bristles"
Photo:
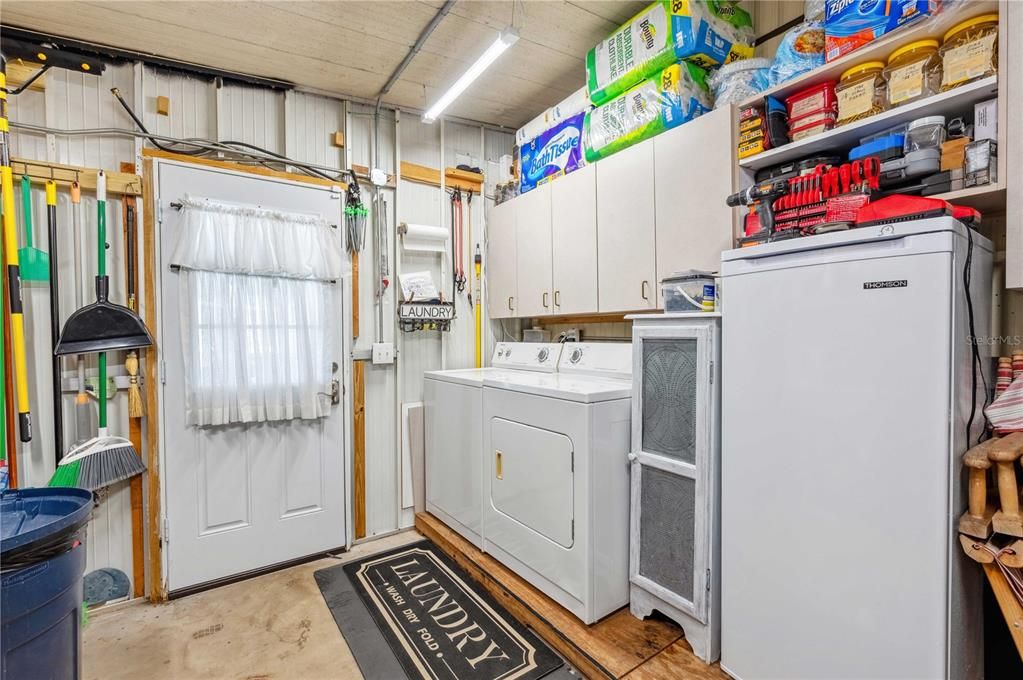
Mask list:
[[[99,258],[96,270],[96,302],[76,311],[64,323],[53,354],[92,354],[135,350],[152,345],[152,335],[135,312],[107,300],[110,279],[106,276],[106,182],[96,182]]]

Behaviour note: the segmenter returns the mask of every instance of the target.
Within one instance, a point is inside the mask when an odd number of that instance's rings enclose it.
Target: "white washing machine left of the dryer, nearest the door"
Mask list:
[[[424,373],[427,510],[483,547],[483,379],[553,373],[558,343],[498,343],[491,366]]]

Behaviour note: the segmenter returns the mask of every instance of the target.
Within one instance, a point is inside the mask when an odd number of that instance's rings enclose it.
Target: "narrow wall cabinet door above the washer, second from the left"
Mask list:
[[[546,316],[553,308],[550,281],[550,183],[515,199],[519,301],[516,316]]]

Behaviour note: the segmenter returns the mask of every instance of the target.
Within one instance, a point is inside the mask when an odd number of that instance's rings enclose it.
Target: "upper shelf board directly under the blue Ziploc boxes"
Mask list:
[[[818,69],[814,69],[790,81],[759,92],[740,105],[748,106],[760,103],[766,96],[773,96],[784,100],[789,95],[795,94],[805,88],[819,85],[826,81],[838,81],[842,74],[851,66],[863,63],[864,61],[887,61],[888,55],[895,51],[897,47],[923,38],[941,38],[948,29],[961,21],[980,14],[996,14],[997,12],[997,0],[964,2],[951,11],[940,12],[936,16],[920,19],[907,27],[893,31],[879,40],[868,43],[859,49],[853,50]]]

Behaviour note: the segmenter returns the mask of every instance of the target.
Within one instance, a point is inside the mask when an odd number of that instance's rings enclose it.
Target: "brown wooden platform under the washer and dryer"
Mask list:
[[[623,608],[586,626],[432,514],[415,515],[415,528],[587,678],[728,677],[717,664],[708,666],[697,659],[681,629],[673,623],[658,619],[640,621]]]

